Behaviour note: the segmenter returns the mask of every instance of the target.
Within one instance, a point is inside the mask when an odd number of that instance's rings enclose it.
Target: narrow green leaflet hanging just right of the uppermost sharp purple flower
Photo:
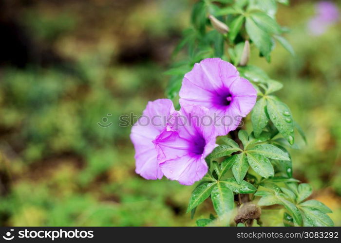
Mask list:
[[[265,98],[261,98],[256,102],[251,112],[251,122],[255,137],[258,137],[262,133],[269,121],[265,113],[265,105]]]

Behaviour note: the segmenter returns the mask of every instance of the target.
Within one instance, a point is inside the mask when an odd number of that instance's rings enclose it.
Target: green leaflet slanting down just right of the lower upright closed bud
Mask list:
[[[263,29],[259,28],[254,20],[246,17],[246,32],[250,36],[253,43],[260,50],[260,52],[269,60],[269,55],[272,49],[271,36],[268,35]]]

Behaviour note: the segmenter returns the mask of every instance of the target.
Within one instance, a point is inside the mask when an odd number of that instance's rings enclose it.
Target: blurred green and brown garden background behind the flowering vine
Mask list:
[[[194,226],[193,186],[135,174],[131,127],[118,126],[165,97],[194,2],[0,1],[1,226]],[[291,151],[294,177],[341,226],[341,22],[312,35],[316,2],[279,8],[295,57],[276,46],[270,64],[256,50],[251,63],[284,83],[278,95],[308,139]],[[196,218],[211,211],[206,202]]]

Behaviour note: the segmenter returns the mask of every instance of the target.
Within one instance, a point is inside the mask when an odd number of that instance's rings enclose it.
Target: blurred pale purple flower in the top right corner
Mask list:
[[[316,12],[316,16],[308,22],[308,30],[312,35],[322,35],[339,19],[338,7],[330,1],[320,1],[316,4]]]

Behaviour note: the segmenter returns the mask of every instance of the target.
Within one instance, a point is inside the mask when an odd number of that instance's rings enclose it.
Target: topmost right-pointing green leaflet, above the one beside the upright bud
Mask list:
[[[269,35],[282,33],[281,27],[276,22],[276,20],[268,16],[264,12],[252,12],[251,17],[253,21],[257,24],[257,26]]]

